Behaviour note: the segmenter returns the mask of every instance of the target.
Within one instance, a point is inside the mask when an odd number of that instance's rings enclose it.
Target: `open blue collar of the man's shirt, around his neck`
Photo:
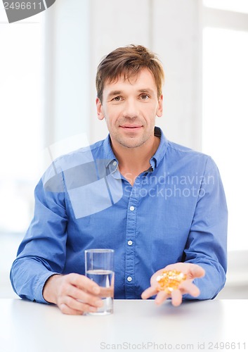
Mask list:
[[[160,161],[162,161],[164,154],[167,152],[168,146],[167,138],[164,136],[162,130],[157,126],[155,126],[154,135],[160,138],[160,143],[156,153],[152,156],[152,158],[150,158],[150,165],[153,169],[157,168]],[[117,158],[111,148],[110,134],[108,134],[107,138],[103,141],[103,157],[105,159],[106,168],[112,161],[117,161]]]

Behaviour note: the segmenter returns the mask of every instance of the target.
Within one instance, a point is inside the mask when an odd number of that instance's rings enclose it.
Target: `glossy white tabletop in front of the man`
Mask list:
[[[56,306],[0,299],[0,351],[248,350],[248,300],[193,301],[177,308],[169,301],[158,307],[154,301],[115,300],[114,310],[72,316]]]

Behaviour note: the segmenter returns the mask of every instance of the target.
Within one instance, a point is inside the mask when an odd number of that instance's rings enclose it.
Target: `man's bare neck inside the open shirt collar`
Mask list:
[[[142,145],[136,148],[126,148],[121,145],[112,145],[115,156],[119,161],[119,172],[132,185],[141,172],[150,168],[150,158],[157,151],[159,143],[159,137],[154,137],[152,143],[148,146]]]

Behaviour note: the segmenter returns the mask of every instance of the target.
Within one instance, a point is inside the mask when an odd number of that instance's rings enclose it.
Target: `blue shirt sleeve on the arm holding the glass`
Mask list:
[[[63,174],[40,180],[34,191],[34,218],[11,268],[11,284],[21,298],[47,303],[42,291],[46,280],[63,272],[66,255],[67,215]]]

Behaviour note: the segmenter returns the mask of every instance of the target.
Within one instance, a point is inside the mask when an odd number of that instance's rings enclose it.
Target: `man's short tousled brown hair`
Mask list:
[[[129,45],[117,48],[105,56],[98,65],[96,73],[96,91],[100,101],[103,99],[105,82],[115,82],[120,76],[124,80],[138,75],[140,70],[148,68],[155,78],[157,97],[162,94],[164,70],[157,56],[142,45]]]

